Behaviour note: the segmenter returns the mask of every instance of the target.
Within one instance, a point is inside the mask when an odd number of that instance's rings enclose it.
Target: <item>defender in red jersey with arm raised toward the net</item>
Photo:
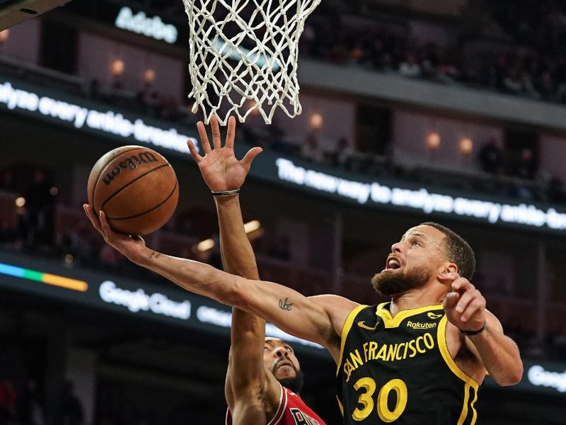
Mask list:
[[[198,130],[204,157],[195,157],[212,193],[230,192],[246,179],[250,164],[261,149],[252,149],[242,161],[233,152],[235,120],[229,121],[226,145],[211,120],[211,148],[202,123]],[[258,279],[252,247],[243,228],[237,196],[214,196],[219,217],[220,247],[226,271]],[[244,240],[246,243],[242,244]],[[265,320],[238,308],[232,310],[231,348],[226,373],[226,423],[234,425],[323,425],[299,397],[303,373],[293,348],[277,338],[265,338]]]

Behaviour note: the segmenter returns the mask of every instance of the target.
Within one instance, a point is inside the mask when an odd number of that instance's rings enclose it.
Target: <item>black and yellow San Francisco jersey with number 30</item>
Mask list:
[[[342,329],[337,397],[344,424],[473,425],[478,383],[454,363],[442,305],[356,307]]]

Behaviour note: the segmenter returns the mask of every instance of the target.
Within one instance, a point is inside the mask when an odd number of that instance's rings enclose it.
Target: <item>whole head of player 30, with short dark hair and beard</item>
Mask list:
[[[475,255],[468,242],[448,227],[424,222],[391,246],[385,268],[371,283],[382,295],[393,296],[434,280],[446,282],[449,273],[471,280],[474,271]]]

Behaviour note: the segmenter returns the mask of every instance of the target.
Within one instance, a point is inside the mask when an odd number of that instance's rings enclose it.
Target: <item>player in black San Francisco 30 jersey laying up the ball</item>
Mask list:
[[[191,142],[189,149],[198,161]],[[226,196],[237,197],[238,191],[233,183]],[[130,261],[325,346],[337,363],[345,424],[472,425],[486,373],[499,385],[521,380],[519,349],[470,282],[473,251],[441,225],[412,227],[391,246],[372,280],[391,302],[365,306],[337,295],[304,297],[277,283],[160,254],[141,238],[112,232],[103,212],[96,215],[88,205],[85,211],[105,241]]]

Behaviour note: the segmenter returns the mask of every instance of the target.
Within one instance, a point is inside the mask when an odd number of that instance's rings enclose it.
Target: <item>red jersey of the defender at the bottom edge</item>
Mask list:
[[[279,384],[280,386],[281,384]],[[226,412],[226,425],[232,425],[230,411]],[[267,425],[326,425],[305,402],[289,388],[281,387],[279,406]]]

